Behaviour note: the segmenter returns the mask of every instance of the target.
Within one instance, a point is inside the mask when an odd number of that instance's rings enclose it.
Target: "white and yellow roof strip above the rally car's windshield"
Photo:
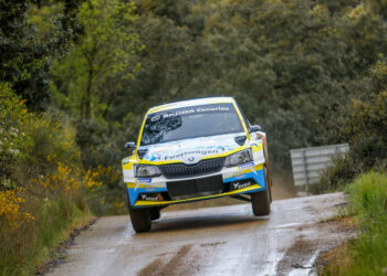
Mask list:
[[[212,105],[212,104],[234,104],[236,100],[232,97],[207,97],[207,98],[194,98],[187,100],[174,102],[160,106],[155,106],[149,109],[148,114],[164,112],[181,107],[190,107],[198,105]]]

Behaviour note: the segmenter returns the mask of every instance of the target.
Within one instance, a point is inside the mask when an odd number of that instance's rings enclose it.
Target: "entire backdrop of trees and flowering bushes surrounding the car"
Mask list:
[[[266,131],[276,170],[290,170],[292,148],[349,142],[326,189],[386,168],[386,11],[383,0],[0,0],[0,272],[34,267],[69,221],[124,212],[123,146],[163,103],[233,96]]]

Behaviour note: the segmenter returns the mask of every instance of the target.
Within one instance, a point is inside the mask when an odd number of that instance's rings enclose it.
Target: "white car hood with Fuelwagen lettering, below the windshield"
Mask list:
[[[203,157],[226,153],[240,147],[234,140],[237,136],[245,136],[245,134],[199,137],[145,146],[142,149],[147,149],[147,152],[143,160],[155,162],[181,161],[188,164],[197,163]]]

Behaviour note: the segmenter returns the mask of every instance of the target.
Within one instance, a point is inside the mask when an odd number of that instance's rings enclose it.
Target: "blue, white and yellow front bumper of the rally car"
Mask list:
[[[189,179],[137,179],[126,183],[132,208],[163,206],[265,190],[263,163],[250,162]]]

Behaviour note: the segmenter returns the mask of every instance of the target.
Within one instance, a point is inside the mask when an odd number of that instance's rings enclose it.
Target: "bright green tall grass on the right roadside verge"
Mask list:
[[[322,275],[387,274],[387,174],[368,172],[347,185],[348,214],[360,234],[326,254]]]

